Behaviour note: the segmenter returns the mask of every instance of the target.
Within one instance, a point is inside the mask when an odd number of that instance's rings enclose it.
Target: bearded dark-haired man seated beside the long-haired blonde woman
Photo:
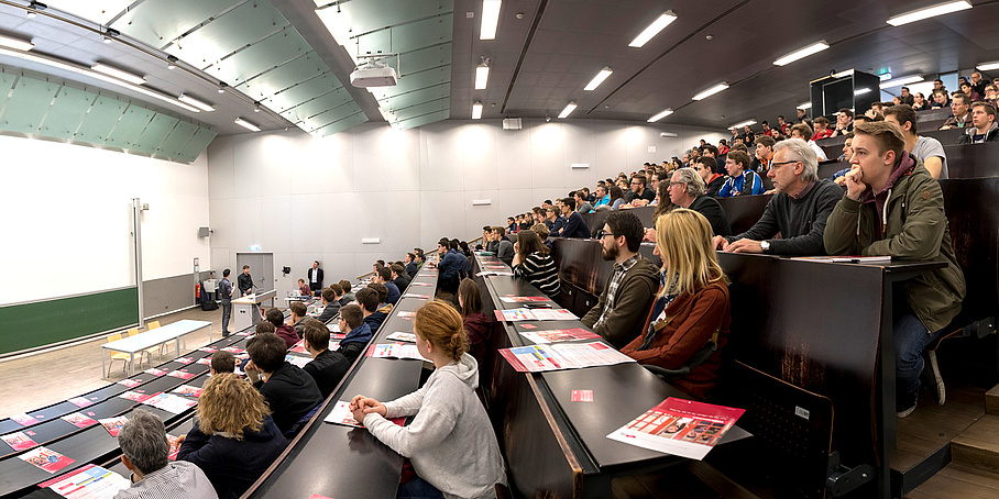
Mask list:
[[[643,321],[659,288],[659,269],[638,254],[643,233],[641,220],[635,213],[618,211],[604,220],[600,233],[601,256],[605,262],[614,262],[614,270],[596,304],[580,319],[616,348],[641,333]]]

